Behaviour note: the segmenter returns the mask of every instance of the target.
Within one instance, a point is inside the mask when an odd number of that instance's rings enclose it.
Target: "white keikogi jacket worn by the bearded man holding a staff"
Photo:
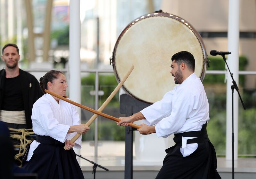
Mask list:
[[[167,92],[161,101],[140,111],[144,123],[156,124],[156,135],[168,137],[172,133],[183,133],[201,130],[203,124],[209,121],[209,103],[200,79],[191,74],[180,85]],[[182,137],[180,152],[186,157],[196,151],[198,144],[187,144],[188,139]]]

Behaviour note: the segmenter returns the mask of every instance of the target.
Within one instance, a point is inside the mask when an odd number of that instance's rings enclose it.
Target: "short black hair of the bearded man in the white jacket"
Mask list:
[[[185,63],[188,66],[189,70],[192,70],[193,72],[195,72],[195,58],[188,51],[180,51],[178,53],[175,53],[172,56],[172,61],[173,60],[175,60],[175,62],[178,65],[180,65],[182,62]]]

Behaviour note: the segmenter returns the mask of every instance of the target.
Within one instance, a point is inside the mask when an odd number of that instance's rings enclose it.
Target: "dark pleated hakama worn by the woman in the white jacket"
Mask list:
[[[37,173],[38,179],[84,179],[73,149],[65,150],[65,144],[50,136],[36,136],[41,144],[36,147],[29,161],[25,152],[22,167]]]

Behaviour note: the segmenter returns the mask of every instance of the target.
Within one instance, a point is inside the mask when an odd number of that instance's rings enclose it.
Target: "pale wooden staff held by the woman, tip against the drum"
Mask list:
[[[100,108],[98,109],[99,112],[101,112],[110,102],[110,100],[116,95],[116,93],[118,92],[118,90],[123,86],[124,82],[126,81],[126,79],[128,78],[128,76],[132,73],[132,70],[134,69],[134,66],[132,65],[130,70],[125,74],[123,80],[121,80],[119,82],[119,84],[116,86],[116,88],[114,89],[114,91],[109,95],[109,97],[106,99],[106,101],[100,106]],[[85,126],[90,126],[92,124],[92,122],[98,117],[98,114],[93,114],[93,116],[91,117],[91,119],[89,121],[86,122]],[[70,143],[74,143],[78,137],[80,137],[81,134],[76,133],[76,135],[70,140]],[[66,150],[66,147],[64,146],[64,149]]]

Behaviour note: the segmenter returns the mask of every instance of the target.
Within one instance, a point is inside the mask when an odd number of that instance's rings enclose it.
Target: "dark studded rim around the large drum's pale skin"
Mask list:
[[[156,11],[156,12],[152,12],[152,13],[148,13],[148,14],[144,14],[136,19],[134,19],[132,22],[130,22],[121,32],[121,34],[118,36],[117,40],[116,40],[116,43],[115,43],[115,46],[114,46],[114,49],[113,49],[113,52],[112,52],[112,58],[111,58],[111,62],[112,62],[112,66],[113,66],[113,70],[114,70],[114,74],[115,74],[115,77],[116,77],[116,81],[119,83],[121,80],[119,78],[119,75],[117,74],[117,71],[116,71],[116,61],[115,61],[115,56],[116,56],[116,49],[117,49],[117,46],[119,44],[119,41],[121,40],[121,38],[123,37],[123,35],[125,34],[125,32],[130,28],[132,27],[135,23],[141,21],[141,20],[144,20],[144,19],[147,19],[149,17],[160,17],[160,16],[163,16],[163,17],[168,17],[168,18],[172,18],[172,19],[175,19],[175,20],[178,20],[180,21],[181,23],[183,23],[184,25],[186,25],[193,33],[194,35],[196,35],[196,38],[198,40],[198,42],[200,43],[200,46],[201,46],[201,49],[202,49],[202,52],[203,52],[203,69],[202,69],[202,73],[200,75],[200,80],[203,82],[204,80],[204,77],[205,77],[205,73],[206,73],[206,62],[207,62],[207,53],[206,53],[206,49],[205,49],[205,45],[204,45],[204,42],[203,42],[203,39],[201,37],[201,35],[196,31],[196,29],[185,19],[179,17],[179,16],[176,16],[174,14],[170,14],[170,13],[167,13],[167,12],[162,12],[162,10],[160,11]],[[124,85],[122,86],[124,91],[131,97],[139,100],[139,101],[142,101],[144,103],[148,103],[148,104],[153,104],[151,102],[148,102],[148,101],[145,101],[143,99],[140,99],[136,96],[134,96]]]

